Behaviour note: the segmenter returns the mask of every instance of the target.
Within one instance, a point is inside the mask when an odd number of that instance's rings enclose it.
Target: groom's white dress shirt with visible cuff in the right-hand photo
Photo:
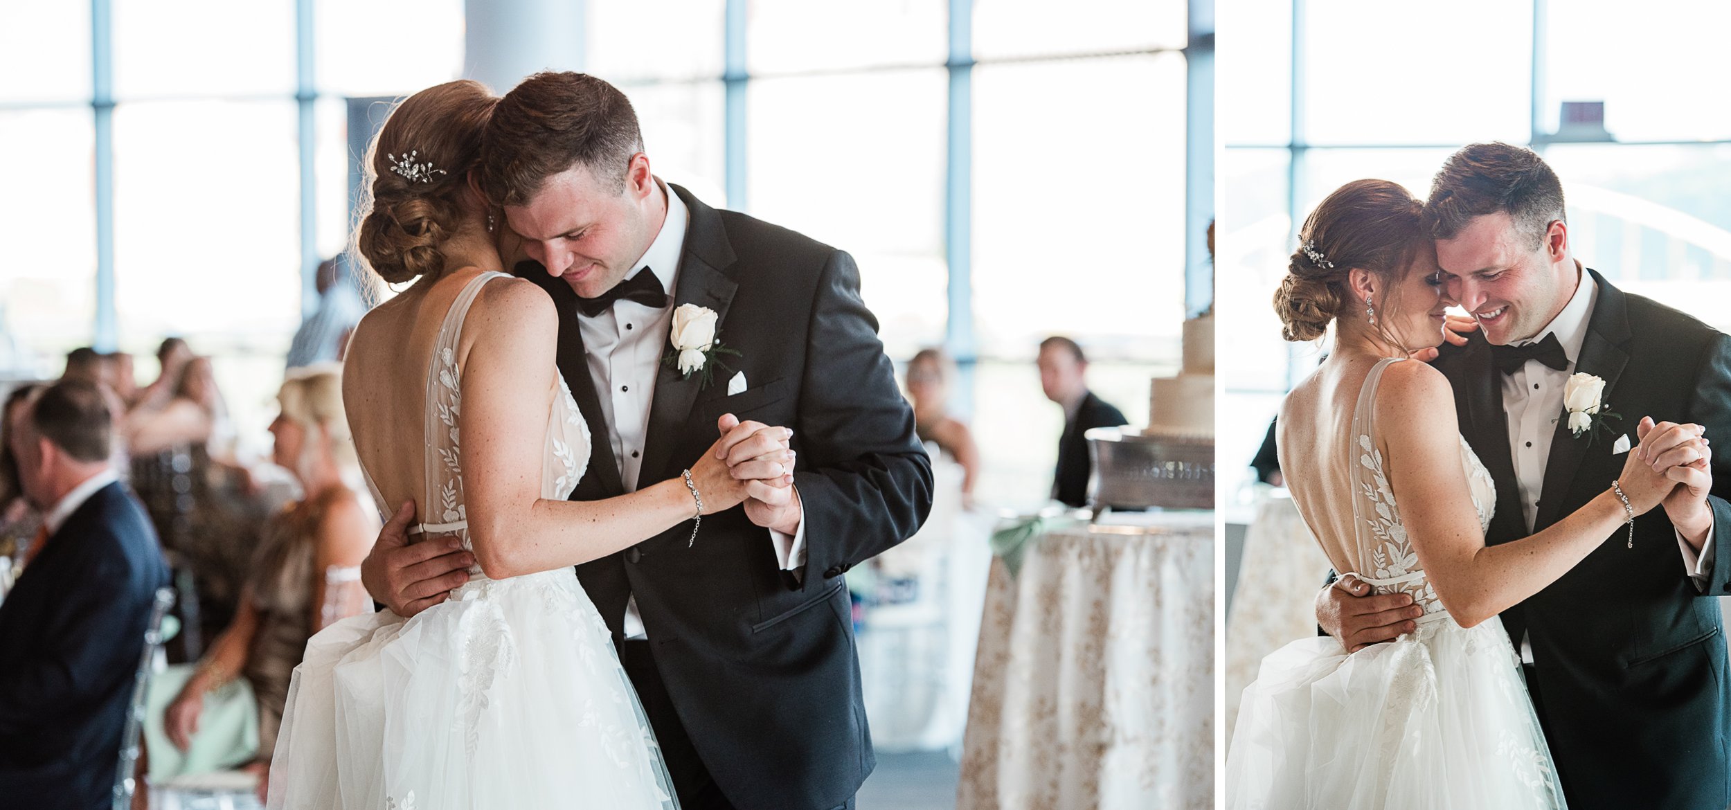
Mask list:
[[[1532,339],[1515,341],[1516,346],[1525,346],[1554,332],[1563,353],[1568,355],[1568,367],[1556,370],[1539,360],[1527,360],[1513,374],[1503,376],[1503,410],[1508,414],[1509,455],[1515,460],[1515,483],[1520,490],[1520,509],[1528,535],[1534,531],[1534,521],[1539,514],[1544,467],[1551,459],[1551,438],[1556,434],[1556,421],[1563,414],[1563,391],[1568,377],[1575,374],[1580,348],[1587,341],[1587,320],[1591,320],[1593,306],[1599,298],[1599,286],[1593,275],[1586,270],[1577,272],[1580,282],[1563,312],[1556,313]],[[1632,426],[1629,441],[1636,443]],[[1702,547],[1700,556],[1683,540],[1683,533],[1677,533],[1677,545],[1683,550],[1684,571],[1696,587],[1705,587],[1707,573],[1712,569],[1712,531],[1707,533],[1707,545]],[[1522,661],[1532,663],[1530,635],[1522,637],[1520,656]]]

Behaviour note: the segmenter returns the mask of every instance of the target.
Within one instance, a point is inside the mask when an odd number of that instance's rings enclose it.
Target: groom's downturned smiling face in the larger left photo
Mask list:
[[[580,298],[613,289],[649,249],[666,216],[649,159],[632,158],[623,180],[573,166],[547,178],[523,206],[505,206],[505,222],[523,251]]]

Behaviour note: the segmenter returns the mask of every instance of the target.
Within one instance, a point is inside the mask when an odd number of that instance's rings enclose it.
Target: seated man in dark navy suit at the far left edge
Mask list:
[[[109,466],[111,414],[93,382],[62,381],[7,434],[42,550],[0,604],[0,805],[111,803],[133,673],[168,566]]]

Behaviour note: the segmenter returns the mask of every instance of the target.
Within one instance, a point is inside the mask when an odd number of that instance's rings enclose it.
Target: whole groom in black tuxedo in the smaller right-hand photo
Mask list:
[[[1425,222],[1447,294],[1480,329],[1445,346],[1461,433],[1497,486],[1487,543],[1528,537],[1601,493],[1643,415],[1731,438],[1731,336],[1627,294],[1570,253],[1563,187],[1532,151],[1461,149]],[[1451,341],[1454,343],[1454,341]],[[1605,381],[1606,431],[1568,429],[1570,374]],[[1591,433],[1591,431],[1589,431]],[[1655,459],[1648,459],[1653,462]],[[1724,810],[1731,675],[1719,601],[1731,592],[1731,453],[1548,588],[1503,613],[1573,808]],[[1364,588],[1361,588],[1362,592]],[[1329,587],[1317,618],[1359,646],[1411,630],[1407,597]]]

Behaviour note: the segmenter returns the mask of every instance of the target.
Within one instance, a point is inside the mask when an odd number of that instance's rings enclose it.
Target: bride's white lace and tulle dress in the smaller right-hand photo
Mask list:
[[[1226,762],[1231,808],[1561,808],[1563,791],[1539,730],[1520,658],[1503,621],[1463,628],[1419,568],[1383,474],[1364,381],[1352,415],[1355,562],[1378,594],[1406,592],[1425,609],[1418,630],[1345,654],[1328,637],[1300,639],[1262,659],[1245,689]],[[1496,486],[1461,440],[1480,528]]]

